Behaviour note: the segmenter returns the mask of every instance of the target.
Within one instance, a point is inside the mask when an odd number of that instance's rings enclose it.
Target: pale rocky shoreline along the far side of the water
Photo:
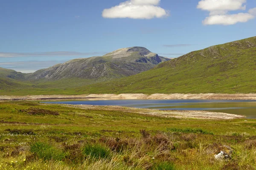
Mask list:
[[[58,100],[58,99],[229,99],[256,100],[256,94],[85,94],[85,95],[38,95],[0,96],[0,100]]]

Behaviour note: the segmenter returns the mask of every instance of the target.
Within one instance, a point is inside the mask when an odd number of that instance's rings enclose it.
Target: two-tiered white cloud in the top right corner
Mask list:
[[[245,23],[256,17],[256,8],[246,13],[229,14],[230,11],[246,10],[246,0],[201,0],[197,8],[209,11],[204,25],[233,25]]]

